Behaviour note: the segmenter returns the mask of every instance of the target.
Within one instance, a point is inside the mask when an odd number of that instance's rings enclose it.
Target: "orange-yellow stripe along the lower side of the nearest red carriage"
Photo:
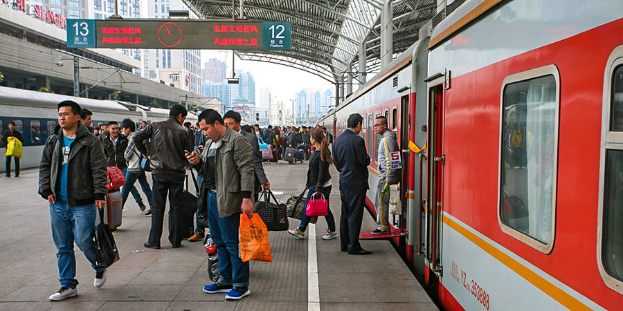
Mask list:
[[[530,270],[525,265],[522,265],[511,256],[508,256],[500,249],[497,249],[493,245],[487,243],[487,241],[483,240],[476,234],[473,234],[468,229],[462,227],[449,217],[442,215],[442,221],[446,225],[454,229],[456,232],[462,234],[462,236],[467,238],[469,241],[478,245],[478,247],[489,253],[489,255],[496,258],[498,261],[500,261],[500,263],[503,263],[511,270],[519,274],[521,277],[523,277],[523,279],[532,283],[532,285],[536,286],[536,288],[539,288],[539,290],[542,290],[545,294],[548,294],[554,300],[561,303],[561,305],[564,305],[569,310],[592,310],[581,301],[575,299],[574,296],[571,296],[564,290],[561,290],[556,285],[550,283],[550,281],[544,279],[543,276],[540,276],[536,272]]]

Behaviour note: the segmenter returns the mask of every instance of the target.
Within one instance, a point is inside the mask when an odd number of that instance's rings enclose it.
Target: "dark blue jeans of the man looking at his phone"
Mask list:
[[[242,262],[238,240],[240,215],[236,213],[227,217],[219,217],[216,194],[208,192],[208,225],[210,238],[217,246],[219,254],[219,281],[223,285],[235,288],[249,286],[249,261]]]

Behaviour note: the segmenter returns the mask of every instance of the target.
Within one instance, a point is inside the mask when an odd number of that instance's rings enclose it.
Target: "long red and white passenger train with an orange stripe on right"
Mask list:
[[[467,1],[320,120],[338,135],[361,113],[372,159],[377,115],[401,149],[426,143],[404,153],[392,243],[444,308],[623,305],[622,17],[614,0]]]

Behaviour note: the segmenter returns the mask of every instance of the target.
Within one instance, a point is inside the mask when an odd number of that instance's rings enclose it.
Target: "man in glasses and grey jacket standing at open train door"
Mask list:
[[[374,120],[374,132],[381,135],[377,163],[379,164],[379,183],[377,195],[374,198],[374,207],[377,209],[377,229],[372,234],[387,234],[391,232],[389,225],[389,190],[390,185],[400,181],[399,169],[388,167],[390,153],[399,151],[396,133],[387,128],[387,118],[382,115]]]

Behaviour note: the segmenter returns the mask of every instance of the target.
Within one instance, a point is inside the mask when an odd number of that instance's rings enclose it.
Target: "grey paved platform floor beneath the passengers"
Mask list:
[[[307,162],[264,167],[280,202],[303,190]],[[48,301],[60,284],[49,209],[37,194],[37,176],[30,169],[20,178],[0,179],[0,310],[437,310],[388,241],[362,241],[372,255],[347,255],[340,252],[339,238],[321,238],[327,229],[323,218],[315,225],[313,240],[309,235],[314,226],[305,240],[270,232],[273,263],[252,261],[251,296],[225,301],[224,294],[201,291],[210,283],[202,243],[183,241],[182,247],[171,249],[166,218],[163,248],[143,247],[151,221],[132,198],[123,225],[114,232],[121,259],[109,268],[106,285],[93,287],[95,273],[76,247],[78,296]],[[332,176],[330,206],[339,223],[334,169]],[[298,223],[290,219],[291,228]],[[363,230],[373,227],[374,220],[365,213]]]

